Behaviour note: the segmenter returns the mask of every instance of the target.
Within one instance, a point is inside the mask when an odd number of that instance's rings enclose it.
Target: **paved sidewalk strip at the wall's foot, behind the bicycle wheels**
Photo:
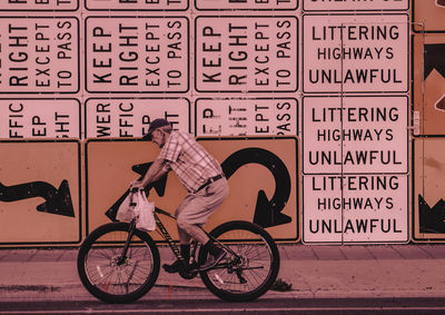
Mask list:
[[[264,298],[445,297],[445,245],[280,245],[278,277],[291,291]],[[161,264],[174,259],[161,247]],[[95,299],[81,285],[73,249],[0,249],[0,302]],[[162,269],[144,297],[216,298],[199,277],[185,280]]]

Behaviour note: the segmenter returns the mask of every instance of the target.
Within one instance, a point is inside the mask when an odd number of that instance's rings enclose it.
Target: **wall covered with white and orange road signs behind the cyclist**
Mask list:
[[[160,117],[197,137],[221,137],[220,144],[235,136],[265,139],[259,148],[293,171],[293,203],[283,210],[283,228],[266,226],[277,238],[305,244],[445,239],[445,229],[424,227],[419,206],[427,203],[433,208],[442,200],[439,194],[429,198],[419,191],[438,183],[429,180],[436,173],[429,173],[432,164],[425,163],[438,146],[423,137],[441,141],[445,135],[439,124],[445,109],[445,4],[419,3],[2,1],[0,225],[14,222],[9,214],[19,214],[20,203],[26,206],[18,216],[24,220],[28,213],[50,215],[34,213],[42,196],[48,201],[42,191],[49,186],[60,189],[60,183],[67,183],[65,190],[76,187],[69,215],[56,216],[53,210],[53,222],[47,224],[56,226],[53,238],[9,233],[9,239],[0,232],[2,244],[78,244],[105,223],[107,205],[92,196],[115,200],[140,176],[128,167],[149,163],[156,148],[140,149],[147,158],[132,156],[127,165],[127,149],[144,144],[122,140],[140,138]],[[415,141],[408,128],[414,117],[421,122]],[[281,138],[274,148],[271,139],[277,136],[299,140],[285,152]],[[68,147],[75,148],[62,138],[78,141],[77,159],[66,155]],[[60,154],[36,154],[49,139],[57,140],[51,140],[55,146],[48,152],[60,148]],[[102,140],[110,151],[96,151]],[[237,147],[233,141],[234,147],[227,147],[234,152],[254,148],[255,142]],[[13,158],[22,146],[33,157],[24,160],[26,166]],[[210,148],[216,150],[215,145]],[[221,155],[226,158],[227,152]],[[435,161],[442,169],[441,159]],[[283,178],[263,177],[255,164],[261,165],[250,163],[254,170],[244,176],[258,175],[256,184],[264,181],[264,187],[260,184],[248,195],[256,199],[264,191],[270,200],[270,183]],[[67,165],[75,171],[61,176]],[[119,174],[115,166],[126,170]],[[39,170],[28,173],[29,168]],[[111,178],[116,171],[121,183],[100,191],[96,177],[102,168]],[[239,176],[229,184],[246,180]],[[46,188],[37,189],[33,183]],[[29,189],[34,193],[24,194]],[[89,195],[89,189],[95,193]],[[180,200],[185,191],[176,190],[171,198]],[[105,209],[91,209],[99,204]],[[67,219],[71,222],[63,223]],[[255,214],[245,219],[254,220]],[[67,224],[62,234],[59,224]]]

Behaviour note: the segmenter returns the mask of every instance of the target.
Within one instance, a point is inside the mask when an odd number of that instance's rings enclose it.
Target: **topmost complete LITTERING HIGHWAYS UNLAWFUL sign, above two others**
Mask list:
[[[303,17],[305,92],[408,91],[407,14]]]

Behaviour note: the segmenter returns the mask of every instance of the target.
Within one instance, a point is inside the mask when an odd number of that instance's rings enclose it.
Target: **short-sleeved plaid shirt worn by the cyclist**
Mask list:
[[[167,167],[176,173],[189,193],[222,174],[219,163],[192,136],[181,131],[171,131],[159,158],[167,161]]]

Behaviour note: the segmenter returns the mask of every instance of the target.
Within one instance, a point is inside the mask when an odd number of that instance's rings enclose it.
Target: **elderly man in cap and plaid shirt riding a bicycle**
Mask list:
[[[211,268],[226,256],[226,252],[216,246],[199,227],[207,223],[209,216],[229,195],[221,166],[192,136],[172,130],[165,119],[152,120],[144,139],[152,140],[161,150],[144,178],[132,183],[131,187],[145,188],[168,171],[176,173],[188,191],[176,210],[180,254],[188,264],[192,237],[210,254],[200,268]],[[168,273],[178,273],[181,262],[178,259],[162,267]]]

